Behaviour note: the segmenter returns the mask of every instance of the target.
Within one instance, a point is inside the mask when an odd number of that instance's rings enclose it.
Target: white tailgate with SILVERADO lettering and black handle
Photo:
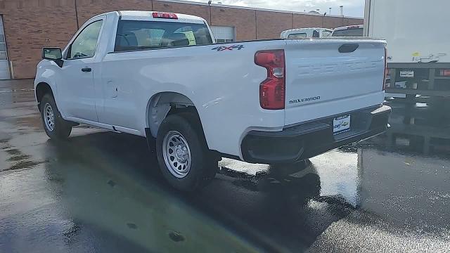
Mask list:
[[[385,41],[287,39],[285,66],[285,125],[384,99]]]

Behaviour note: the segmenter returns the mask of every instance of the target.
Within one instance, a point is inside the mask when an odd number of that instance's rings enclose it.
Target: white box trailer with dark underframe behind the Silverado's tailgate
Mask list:
[[[450,96],[449,9],[449,0],[366,0],[364,35],[387,41],[388,93]]]

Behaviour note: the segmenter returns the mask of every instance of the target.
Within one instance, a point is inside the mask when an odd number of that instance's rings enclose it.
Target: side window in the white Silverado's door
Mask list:
[[[103,20],[98,20],[84,27],[84,30],[72,42],[68,58],[86,58],[95,55],[102,22]]]

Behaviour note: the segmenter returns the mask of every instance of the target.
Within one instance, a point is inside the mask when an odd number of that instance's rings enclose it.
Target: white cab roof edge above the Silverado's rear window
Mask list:
[[[204,18],[200,18],[195,15],[186,15],[180,13],[174,13],[178,19],[168,18],[153,18],[152,13],[159,13],[160,11],[117,11],[122,17],[122,20],[153,20],[153,21],[170,21],[170,22],[191,22],[203,24],[206,22]],[[161,12],[166,13],[166,12]]]

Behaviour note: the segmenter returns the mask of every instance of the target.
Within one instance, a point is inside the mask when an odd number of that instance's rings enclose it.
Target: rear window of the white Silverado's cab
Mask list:
[[[212,44],[205,24],[120,20],[114,51]]]

